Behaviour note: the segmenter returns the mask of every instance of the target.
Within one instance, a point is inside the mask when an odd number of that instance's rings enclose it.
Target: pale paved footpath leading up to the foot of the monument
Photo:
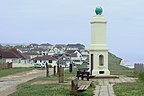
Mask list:
[[[135,82],[137,78],[119,76],[119,78],[94,79],[97,82],[93,96],[116,96],[113,85],[116,83]]]

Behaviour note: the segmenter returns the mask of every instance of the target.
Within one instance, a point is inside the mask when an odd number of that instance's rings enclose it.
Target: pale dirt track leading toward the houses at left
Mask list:
[[[53,70],[50,69],[50,75]],[[0,96],[7,96],[16,91],[19,84],[37,77],[46,76],[46,70],[32,70],[0,78]]]

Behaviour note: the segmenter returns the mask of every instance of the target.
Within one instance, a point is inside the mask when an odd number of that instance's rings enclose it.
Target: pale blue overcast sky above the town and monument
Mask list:
[[[144,59],[144,0],[0,0],[0,43],[82,43],[101,6],[109,51]]]

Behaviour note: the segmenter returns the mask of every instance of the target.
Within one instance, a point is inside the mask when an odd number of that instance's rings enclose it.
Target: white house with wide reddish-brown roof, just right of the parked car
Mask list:
[[[57,65],[56,63],[57,59],[48,55],[45,55],[42,57],[35,57],[32,60],[33,60],[33,63],[44,63],[44,64],[48,63],[52,67]]]

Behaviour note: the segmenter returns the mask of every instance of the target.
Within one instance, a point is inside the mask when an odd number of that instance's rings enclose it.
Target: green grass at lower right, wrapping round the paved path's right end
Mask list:
[[[125,74],[130,77],[138,77],[139,80],[114,85],[116,96],[144,96],[144,73],[134,73],[133,70],[129,70]]]

